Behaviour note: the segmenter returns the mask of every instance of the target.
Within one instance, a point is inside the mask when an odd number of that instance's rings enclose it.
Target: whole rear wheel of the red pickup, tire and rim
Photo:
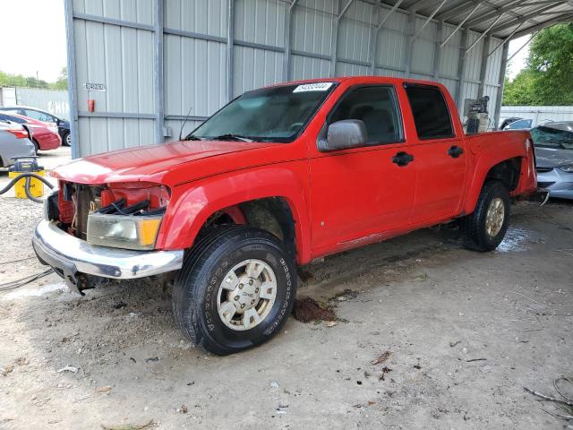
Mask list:
[[[485,183],[475,211],[461,219],[466,247],[480,252],[497,248],[508,230],[510,208],[505,185],[499,181]]]

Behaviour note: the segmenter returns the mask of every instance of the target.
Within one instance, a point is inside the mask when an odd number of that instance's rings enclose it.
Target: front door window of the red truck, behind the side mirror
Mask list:
[[[329,124],[359,119],[366,126],[367,144],[402,142],[402,122],[393,87],[367,86],[350,90],[329,115]]]

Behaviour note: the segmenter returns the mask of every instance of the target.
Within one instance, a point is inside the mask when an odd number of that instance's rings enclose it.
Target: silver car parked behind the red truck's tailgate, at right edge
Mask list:
[[[537,160],[537,185],[550,197],[573,199],[573,121],[532,128]]]

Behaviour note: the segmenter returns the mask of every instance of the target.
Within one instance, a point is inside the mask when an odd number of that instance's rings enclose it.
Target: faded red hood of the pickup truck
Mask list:
[[[128,150],[115,150],[75,159],[59,166],[52,176],[79,184],[108,184],[113,182],[150,181],[164,182],[162,179],[174,168],[201,159],[222,157],[226,154],[258,150],[272,145],[261,142],[227,141],[182,141]],[[235,157],[235,159],[248,159]],[[239,166],[240,168],[240,166]],[[186,178],[192,180],[193,170]],[[201,172],[197,171],[197,175]],[[199,176],[198,176],[199,177]]]

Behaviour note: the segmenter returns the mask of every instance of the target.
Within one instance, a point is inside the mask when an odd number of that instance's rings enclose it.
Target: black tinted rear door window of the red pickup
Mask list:
[[[437,87],[406,84],[415,130],[420,140],[455,137],[448,105]]]

